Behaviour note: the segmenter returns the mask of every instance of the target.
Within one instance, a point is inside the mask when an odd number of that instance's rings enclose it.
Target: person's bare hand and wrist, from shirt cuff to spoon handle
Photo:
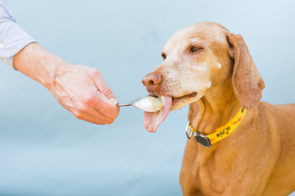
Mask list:
[[[110,124],[118,116],[118,100],[96,69],[64,62],[37,43],[14,56],[14,67],[43,84],[78,119]]]

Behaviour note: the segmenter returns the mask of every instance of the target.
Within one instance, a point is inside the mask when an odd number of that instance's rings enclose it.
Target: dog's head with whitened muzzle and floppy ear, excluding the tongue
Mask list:
[[[253,109],[265,87],[240,35],[203,22],[177,31],[162,49],[163,63],[143,78],[150,95],[172,97],[171,110],[222,86],[229,77],[238,103]],[[216,88],[215,88],[216,89]]]

